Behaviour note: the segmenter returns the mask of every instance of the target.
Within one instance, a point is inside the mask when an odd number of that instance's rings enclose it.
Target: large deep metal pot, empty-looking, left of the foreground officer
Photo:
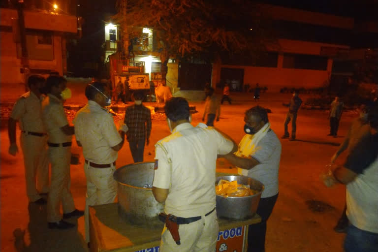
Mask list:
[[[114,172],[118,182],[118,213],[137,225],[162,227],[158,214],[164,206],[156,201],[152,193],[154,162],[125,165]]]

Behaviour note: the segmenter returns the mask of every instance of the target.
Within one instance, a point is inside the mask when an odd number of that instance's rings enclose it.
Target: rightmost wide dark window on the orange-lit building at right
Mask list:
[[[327,70],[327,64],[327,57],[304,54],[284,54],[283,68]]]

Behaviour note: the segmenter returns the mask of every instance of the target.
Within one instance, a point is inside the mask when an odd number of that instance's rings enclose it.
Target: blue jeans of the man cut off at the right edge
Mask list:
[[[378,252],[378,233],[364,231],[350,224],[344,240],[344,250],[345,252]]]

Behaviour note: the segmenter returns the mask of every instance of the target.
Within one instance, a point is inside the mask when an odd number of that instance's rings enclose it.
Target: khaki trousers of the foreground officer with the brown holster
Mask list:
[[[177,245],[164,226],[159,252],[214,252],[217,246],[219,224],[217,211],[201,216],[198,221],[179,226],[180,242]]]

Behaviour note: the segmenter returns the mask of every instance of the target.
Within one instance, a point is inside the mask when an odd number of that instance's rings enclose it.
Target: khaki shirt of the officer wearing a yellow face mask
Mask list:
[[[42,119],[50,143],[60,144],[72,141],[72,135],[64,134],[61,129],[61,127],[68,125],[61,99],[55,95],[47,95],[42,102]]]

